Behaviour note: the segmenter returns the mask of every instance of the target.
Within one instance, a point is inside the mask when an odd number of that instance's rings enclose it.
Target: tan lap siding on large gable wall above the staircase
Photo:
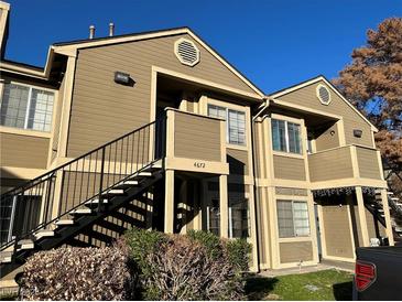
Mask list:
[[[152,65],[252,91],[200,45],[200,62],[188,67],[174,54],[176,35],[82,50],[77,56],[68,136],[68,157],[77,157],[150,122]],[[197,44],[197,43],[196,43]],[[118,85],[115,72],[129,73],[134,86]]]

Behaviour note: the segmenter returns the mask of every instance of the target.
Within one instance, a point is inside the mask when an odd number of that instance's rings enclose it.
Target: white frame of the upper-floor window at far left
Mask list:
[[[56,108],[56,103],[57,103],[57,90],[54,90],[54,89],[51,89],[51,88],[46,88],[46,87],[36,86],[36,85],[30,85],[30,84],[25,84],[25,83],[20,83],[20,82],[15,82],[15,80],[4,80],[4,82],[1,83],[1,89],[0,89],[0,97],[1,97],[1,99],[0,99],[0,107],[1,107],[1,104],[3,101],[3,94],[4,94],[6,85],[8,85],[8,84],[19,85],[19,86],[23,86],[23,87],[28,87],[29,88],[28,103],[26,103],[26,114],[25,114],[25,120],[24,120],[24,128],[10,127],[10,126],[6,126],[6,125],[0,125],[0,127],[1,128],[4,127],[4,128],[8,128],[8,129],[20,129],[20,130],[26,130],[26,131],[42,132],[42,133],[52,133],[54,118],[55,118],[55,108]],[[35,129],[28,128],[28,122],[29,122],[29,117],[30,117],[30,106],[31,106],[32,89],[43,90],[43,91],[47,91],[47,93],[53,94],[52,122],[51,122],[51,128],[50,128],[48,131],[45,131],[45,130],[35,130]]]

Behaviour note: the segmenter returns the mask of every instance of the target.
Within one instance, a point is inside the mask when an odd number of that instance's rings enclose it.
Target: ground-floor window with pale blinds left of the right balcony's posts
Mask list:
[[[276,202],[278,229],[280,238],[309,236],[307,202]]]

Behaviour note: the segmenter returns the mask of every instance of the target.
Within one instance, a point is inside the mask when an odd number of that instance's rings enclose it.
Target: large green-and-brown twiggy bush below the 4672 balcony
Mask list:
[[[188,236],[181,236],[141,229],[129,230],[126,242],[130,257],[139,266],[142,299],[245,298],[240,270],[235,265],[239,257],[233,256],[245,245],[226,248],[227,242],[210,233],[189,231]]]

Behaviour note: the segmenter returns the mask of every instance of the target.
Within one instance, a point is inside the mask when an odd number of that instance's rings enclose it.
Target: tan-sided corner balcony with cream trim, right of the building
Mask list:
[[[337,186],[383,187],[379,151],[361,145],[345,145],[308,154],[313,188]]]

